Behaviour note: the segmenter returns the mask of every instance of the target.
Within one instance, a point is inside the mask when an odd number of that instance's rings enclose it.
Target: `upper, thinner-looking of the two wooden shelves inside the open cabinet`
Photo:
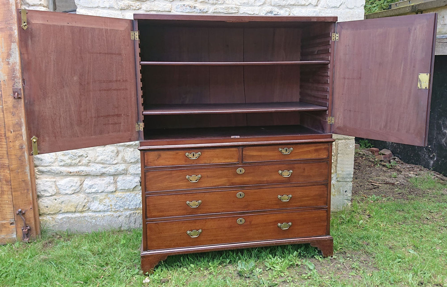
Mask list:
[[[140,62],[148,66],[256,66],[256,65],[311,65],[329,64],[329,61],[287,61],[287,62]]]

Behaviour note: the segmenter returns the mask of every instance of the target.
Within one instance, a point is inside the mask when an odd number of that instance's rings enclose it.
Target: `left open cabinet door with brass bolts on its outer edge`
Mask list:
[[[39,153],[138,140],[132,21],[33,10],[26,19],[23,98]]]

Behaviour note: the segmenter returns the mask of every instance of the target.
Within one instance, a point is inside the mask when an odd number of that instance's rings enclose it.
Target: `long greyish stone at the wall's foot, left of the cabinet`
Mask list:
[[[141,210],[109,213],[83,212],[41,216],[42,226],[54,231],[91,232],[141,228]]]

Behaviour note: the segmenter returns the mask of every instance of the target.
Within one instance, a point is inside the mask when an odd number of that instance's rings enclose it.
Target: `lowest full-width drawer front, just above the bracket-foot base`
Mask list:
[[[245,222],[239,224],[242,218]],[[327,210],[234,215],[147,223],[148,249],[261,241],[326,234]],[[284,225],[281,229],[278,224]],[[197,236],[197,232],[200,234]],[[188,235],[190,231],[190,235]],[[196,237],[191,237],[196,236]]]

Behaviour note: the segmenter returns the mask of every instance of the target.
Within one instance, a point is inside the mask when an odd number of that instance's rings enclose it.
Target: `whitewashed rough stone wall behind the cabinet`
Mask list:
[[[25,0],[29,9],[47,1]],[[364,0],[76,0],[77,13],[131,19],[134,13],[338,16],[363,19]],[[334,135],[332,210],[349,205],[354,138]],[[91,231],[141,227],[138,143],[34,156],[42,226]]]

